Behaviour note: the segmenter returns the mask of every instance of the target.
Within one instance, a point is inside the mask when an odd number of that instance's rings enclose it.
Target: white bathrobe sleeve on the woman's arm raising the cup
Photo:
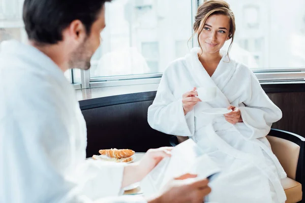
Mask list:
[[[148,108],[147,120],[152,128],[161,132],[191,137],[195,131],[194,110],[184,115],[182,95],[180,98],[173,95],[174,80],[178,77],[172,64],[162,76],[156,98]]]

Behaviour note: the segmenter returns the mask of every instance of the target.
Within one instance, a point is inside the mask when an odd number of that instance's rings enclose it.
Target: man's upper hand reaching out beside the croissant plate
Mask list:
[[[141,181],[164,157],[171,156],[171,150],[172,147],[149,149],[140,161],[127,164],[124,169],[121,187]]]

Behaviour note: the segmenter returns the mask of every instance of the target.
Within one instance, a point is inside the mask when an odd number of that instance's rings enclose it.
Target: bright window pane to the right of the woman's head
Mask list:
[[[305,1],[227,2],[236,20],[232,57],[252,68],[305,67]]]

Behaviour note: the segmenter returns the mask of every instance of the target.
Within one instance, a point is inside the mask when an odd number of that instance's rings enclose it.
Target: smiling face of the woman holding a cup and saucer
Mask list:
[[[207,18],[199,35],[203,53],[214,54],[229,40],[230,20],[226,15],[211,15]]]

